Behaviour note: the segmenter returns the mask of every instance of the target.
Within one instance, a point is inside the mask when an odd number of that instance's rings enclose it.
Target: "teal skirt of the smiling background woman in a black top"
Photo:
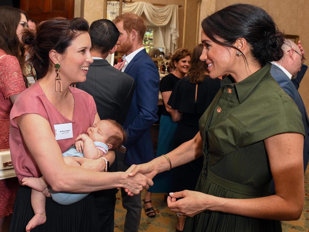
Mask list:
[[[161,115],[156,158],[169,153],[173,149],[177,127],[178,122],[174,122],[171,116]],[[170,192],[171,171],[159,173],[152,180],[154,185],[150,186],[149,192]]]

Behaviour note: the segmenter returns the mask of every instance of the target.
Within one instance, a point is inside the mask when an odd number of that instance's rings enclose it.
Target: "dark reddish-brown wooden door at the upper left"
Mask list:
[[[74,0],[20,0],[20,9],[38,22],[54,17],[74,18]]]

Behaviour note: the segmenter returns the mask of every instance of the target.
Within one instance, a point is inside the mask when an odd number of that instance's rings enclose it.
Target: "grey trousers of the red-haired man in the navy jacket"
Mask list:
[[[117,153],[118,171],[125,172],[130,166],[125,165],[123,160],[125,153]],[[125,215],[125,232],[138,232],[139,223],[142,214],[141,195],[129,196],[123,188],[121,188],[122,206],[127,210]]]

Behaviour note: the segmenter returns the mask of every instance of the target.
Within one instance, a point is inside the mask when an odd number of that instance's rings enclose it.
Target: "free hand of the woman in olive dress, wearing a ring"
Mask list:
[[[176,201],[176,198],[183,197]],[[214,196],[197,191],[184,190],[181,192],[170,193],[167,197],[167,206],[173,212],[179,212],[181,216],[193,217],[207,209]]]

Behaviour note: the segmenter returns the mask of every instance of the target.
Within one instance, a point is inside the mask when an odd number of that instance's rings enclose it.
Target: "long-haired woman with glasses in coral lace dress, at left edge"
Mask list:
[[[26,88],[20,63],[23,47],[19,33],[27,27],[26,16],[9,6],[0,7],[0,150],[9,148],[10,112],[17,95]],[[0,231],[13,212],[17,178],[0,180]]]

